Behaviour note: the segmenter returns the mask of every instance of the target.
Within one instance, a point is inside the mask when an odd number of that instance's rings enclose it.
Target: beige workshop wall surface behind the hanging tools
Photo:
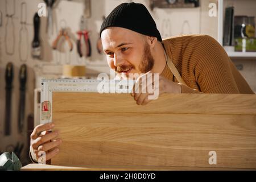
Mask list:
[[[7,6],[6,6],[7,2]],[[27,11],[22,11],[21,4],[25,2]],[[96,44],[99,38],[98,32],[102,23],[102,16],[106,16],[119,5],[122,0],[93,0],[92,1],[92,16],[86,20],[86,28],[89,30],[89,38],[92,44],[92,56],[80,58],[76,48],[76,32],[79,30],[79,23],[81,15],[84,13],[84,0],[59,0],[53,6],[53,34],[46,33],[47,18],[41,17],[40,38],[42,40],[42,59],[34,59],[31,56],[31,43],[34,39],[33,17],[39,10],[38,5],[43,1],[40,0],[0,0],[0,11],[2,12],[2,26],[0,26],[0,151],[11,150],[9,144],[14,146],[17,142],[24,144],[24,149],[21,155],[23,162],[26,163],[28,154],[27,131],[18,134],[18,110],[19,110],[19,68],[23,63],[27,64],[27,85],[26,85],[26,108],[25,121],[29,114],[34,113],[34,89],[40,87],[40,78],[42,77],[60,77],[62,74],[62,65],[86,65],[86,73],[88,75],[96,75],[97,73],[110,73],[110,69],[106,64],[105,56],[97,52]],[[143,3],[148,10],[148,0],[138,0],[134,2]],[[160,34],[163,38],[179,34],[208,34],[217,39],[217,18],[208,16],[209,2],[217,3],[217,0],[201,1],[201,6],[197,8],[185,9],[158,9],[150,10],[151,15],[156,21]],[[15,11],[14,11],[15,3]],[[7,7],[7,8],[6,8]],[[7,11],[7,12],[6,12]],[[6,17],[6,14],[14,13],[13,24],[11,20]],[[26,24],[20,24],[21,14],[27,17]],[[13,26],[13,27],[12,27]],[[26,26],[27,32],[22,27]],[[53,40],[59,34],[62,27],[67,28],[68,35],[73,43],[73,50],[69,52],[68,44],[63,44],[57,50],[51,48]],[[13,29],[12,29],[13,28]],[[12,32],[14,30],[14,34]],[[27,35],[26,35],[27,33]],[[21,36],[20,36],[21,35]],[[22,42],[20,44],[20,42]],[[12,44],[13,43],[13,44]],[[7,47],[7,48],[6,48]],[[7,55],[6,49],[14,48],[13,55]],[[24,58],[27,59],[26,61]],[[11,100],[11,136],[5,137],[3,134],[4,119],[5,119],[5,68],[6,64],[11,62],[14,64],[14,81],[13,92]],[[249,64],[243,62],[242,64]],[[251,64],[251,63],[250,63]],[[254,72],[256,67],[250,69]],[[253,77],[246,75],[249,78],[249,83],[254,82]],[[253,89],[256,91],[254,83]],[[27,128],[27,122],[24,126]],[[9,146],[9,147],[7,147]]]

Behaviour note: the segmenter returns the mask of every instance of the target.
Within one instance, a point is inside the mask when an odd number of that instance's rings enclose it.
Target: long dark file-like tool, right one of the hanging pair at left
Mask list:
[[[27,81],[27,66],[22,64],[19,70],[19,115],[18,128],[19,133],[22,133],[24,127],[25,101],[26,101],[26,81]]]

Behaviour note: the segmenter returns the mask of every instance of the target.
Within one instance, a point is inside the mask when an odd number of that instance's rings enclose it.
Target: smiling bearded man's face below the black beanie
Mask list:
[[[102,31],[102,46],[108,65],[119,74],[146,73],[154,66],[146,36],[120,27]]]

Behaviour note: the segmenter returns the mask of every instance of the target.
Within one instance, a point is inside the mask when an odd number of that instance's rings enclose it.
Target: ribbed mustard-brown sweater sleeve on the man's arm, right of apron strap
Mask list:
[[[232,75],[230,59],[224,48],[212,37],[205,35],[197,40],[191,59],[196,59],[195,79],[203,93],[239,93]],[[182,86],[183,93],[192,90]]]

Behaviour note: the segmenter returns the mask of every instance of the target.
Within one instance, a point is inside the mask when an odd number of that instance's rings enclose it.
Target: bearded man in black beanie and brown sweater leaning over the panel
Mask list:
[[[117,6],[102,23],[100,34],[109,67],[127,77],[159,73],[159,94],[254,93],[216,40],[208,35],[183,35],[162,41],[142,4]],[[148,93],[132,96],[139,105],[150,101]],[[49,142],[57,132],[46,132],[53,127],[51,123],[40,125],[31,134],[34,160],[40,151],[46,151],[46,160],[59,152],[61,140]]]

